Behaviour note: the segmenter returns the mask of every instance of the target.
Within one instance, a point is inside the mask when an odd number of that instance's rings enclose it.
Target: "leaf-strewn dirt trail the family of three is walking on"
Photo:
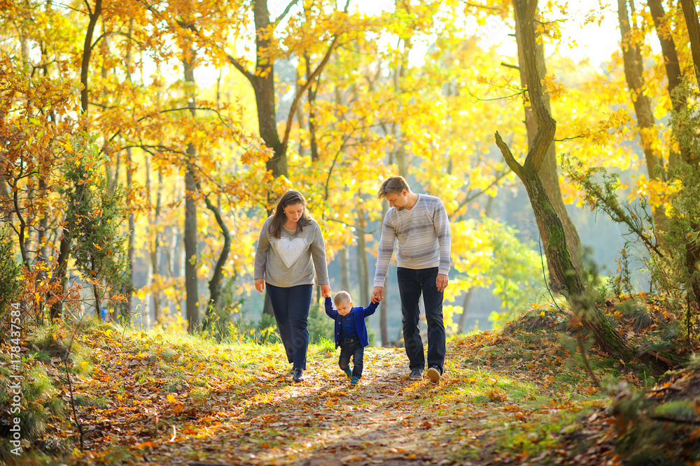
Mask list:
[[[245,409],[232,402],[192,419],[221,423],[208,435],[183,438],[192,430],[186,429],[169,442],[163,437],[172,432],[162,433],[144,448],[143,460],[190,466],[455,464],[453,447],[464,446],[446,442],[443,432],[461,430],[468,438],[479,428],[474,419],[448,414],[452,409],[440,401],[459,372],[446,372],[438,385],[427,377],[412,381],[403,349],[372,348],[365,352],[363,379],[353,387],[335,354],[309,354],[302,384],[292,384],[288,375],[256,381],[257,393]]]

